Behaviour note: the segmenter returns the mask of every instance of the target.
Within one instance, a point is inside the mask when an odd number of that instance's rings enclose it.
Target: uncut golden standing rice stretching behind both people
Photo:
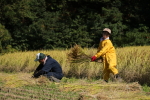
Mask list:
[[[81,49],[89,56],[94,55],[97,51],[94,48]],[[82,63],[70,63],[68,60],[70,49],[26,51],[1,55],[0,70],[3,72],[32,73],[39,64],[34,61],[36,54],[39,52],[56,59],[61,64],[65,77],[101,78],[102,63],[90,62],[90,58]],[[148,81],[150,80],[150,46],[116,48],[116,52],[117,68],[125,81],[150,84],[150,81]]]

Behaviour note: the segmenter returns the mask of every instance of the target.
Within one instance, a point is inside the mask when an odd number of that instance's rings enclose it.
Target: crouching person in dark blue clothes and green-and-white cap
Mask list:
[[[43,75],[50,81],[60,82],[63,77],[62,68],[60,64],[50,56],[43,53],[38,53],[34,61],[39,61],[39,66],[34,71],[33,77],[38,78]]]

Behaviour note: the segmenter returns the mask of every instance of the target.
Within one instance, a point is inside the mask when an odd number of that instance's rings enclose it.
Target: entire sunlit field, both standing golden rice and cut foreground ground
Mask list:
[[[101,79],[102,63],[90,61],[90,56],[97,51],[94,48],[82,48],[82,52],[89,58],[78,63],[72,63],[68,59],[68,54],[72,52],[71,49],[15,52],[1,55],[0,98],[3,100],[46,100],[48,99],[46,96],[56,100],[93,100],[93,98],[95,98],[94,100],[133,100],[133,97],[138,100],[149,98],[141,87],[145,84],[144,90],[149,93],[150,89],[147,87],[150,85],[149,48],[150,46],[116,48],[117,68],[123,80],[119,83],[114,83],[111,80],[110,83],[105,83]],[[61,83],[49,82],[44,77],[31,78],[33,71],[39,64],[34,59],[36,54],[40,52],[50,55],[61,64],[64,73]],[[41,91],[41,88],[45,89],[44,91],[47,93]],[[37,90],[38,92],[36,92]],[[27,97],[24,97],[25,95]]]

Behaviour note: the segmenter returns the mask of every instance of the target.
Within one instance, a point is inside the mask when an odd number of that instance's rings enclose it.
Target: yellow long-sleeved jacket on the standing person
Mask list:
[[[116,66],[116,51],[109,39],[103,40],[99,43],[96,58],[100,56],[106,59],[109,64]]]

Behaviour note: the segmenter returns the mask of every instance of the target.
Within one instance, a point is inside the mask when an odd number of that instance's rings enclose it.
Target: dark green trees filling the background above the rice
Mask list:
[[[149,0],[0,0],[0,52],[150,45]]]

